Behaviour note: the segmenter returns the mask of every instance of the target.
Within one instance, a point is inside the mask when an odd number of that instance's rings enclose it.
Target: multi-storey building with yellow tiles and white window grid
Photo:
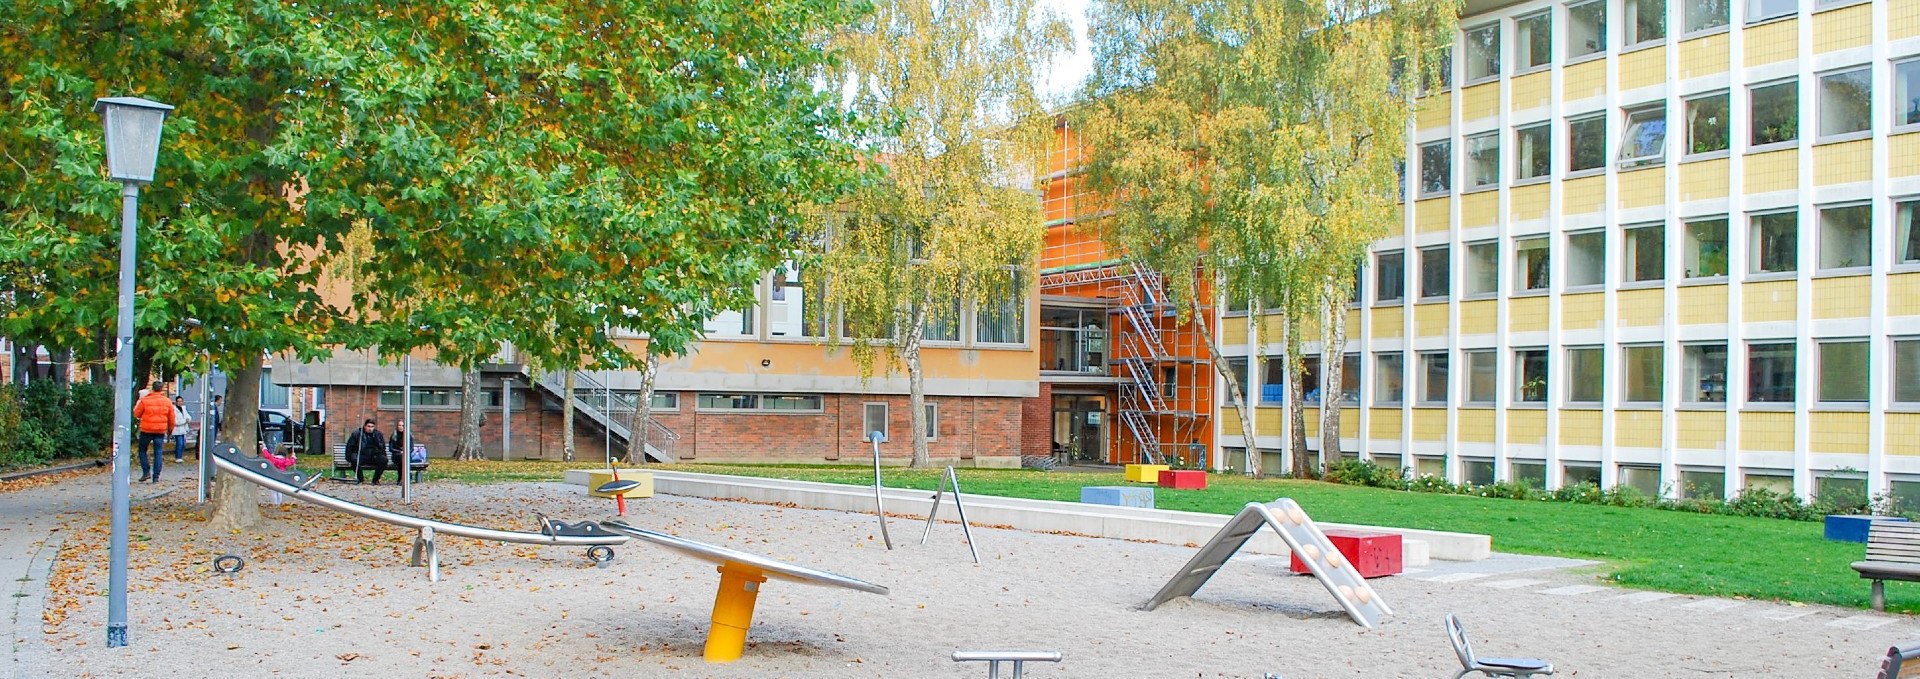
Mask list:
[[[1350,311],[1342,453],[1920,499],[1920,0],[1469,0],[1453,44]],[[1284,449],[1279,368],[1248,378]]]

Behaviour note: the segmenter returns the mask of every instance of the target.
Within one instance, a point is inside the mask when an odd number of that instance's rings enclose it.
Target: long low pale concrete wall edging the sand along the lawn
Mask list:
[[[860,485],[787,481],[726,474],[653,472],[655,489],[666,495],[741,499],[753,503],[785,503],[806,508],[841,512],[872,512],[874,489]],[[933,493],[912,489],[881,489],[887,514],[925,516]],[[1029,501],[993,495],[964,495],[968,520],[979,526],[1006,526],[1025,531],[1058,531],[1114,539],[1154,541],[1167,545],[1204,545],[1231,516],[1150,510],[1081,503]],[[1311,510],[1311,508],[1309,508]],[[952,518],[952,514],[941,514]],[[1427,566],[1428,558],[1484,560],[1494,552],[1488,535],[1425,531],[1409,527],[1379,527],[1352,524],[1319,524],[1323,529],[1356,529],[1398,533],[1404,545],[1404,564]],[[1248,550],[1286,554],[1286,543],[1271,531],[1261,531],[1246,545]]]

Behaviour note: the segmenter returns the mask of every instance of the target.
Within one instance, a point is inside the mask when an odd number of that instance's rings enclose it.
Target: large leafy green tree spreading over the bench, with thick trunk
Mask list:
[[[632,361],[601,328],[685,347],[856,173],[858,130],[818,88],[851,2],[0,12],[0,286],[48,301],[8,303],[6,330],[79,341],[111,318],[115,188],[90,105],[179,105],[142,201],[138,326],[205,320],[159,355],[236,366],[242,449],[265,353],[428,347],[472,368],[507,341]],[[217,527],[257,520],[242,485],[219,483]]]

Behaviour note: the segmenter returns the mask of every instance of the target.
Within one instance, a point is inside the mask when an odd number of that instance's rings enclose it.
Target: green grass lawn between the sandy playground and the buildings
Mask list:
[[[434,462],[434,476],[467,481],[555,480],[591,462]],[[764,476],[828,483],[872,483],[856,466],[674,464],[668,470]],[[933,470],[887,468],[887,485],[933,489]],[[1119,485],[1119,472],[962,470],[968,493],[1079,501],[1083,485]],[[1657,508],[1528,503],[1294,480],[1212,476],[1206,491],[1156,493],[1160,508],[1233,514],[1246,503],[1292,497],[1321,522],[1486,533],[1494,549],[1519,554],[1594,558],[1603,577],[1624,587],[1686,595],[1866,606],[1868,581],[1847,564],[1857,543],[1830,543],[1816,522],[1686,514]],[[1889,583],[1887,608],[1920,612],[1920,583]]]

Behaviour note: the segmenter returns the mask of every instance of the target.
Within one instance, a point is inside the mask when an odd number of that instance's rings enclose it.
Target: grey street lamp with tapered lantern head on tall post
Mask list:
[[[140,184],[154,182],[159,125],[171,105],[134,96],[94,102],[106,127],[108,176],[121,182],[121,286],[113,345],[113,520],[108,541],[108,648],[127,644],[127,516],[132,451],[132,255]]]

